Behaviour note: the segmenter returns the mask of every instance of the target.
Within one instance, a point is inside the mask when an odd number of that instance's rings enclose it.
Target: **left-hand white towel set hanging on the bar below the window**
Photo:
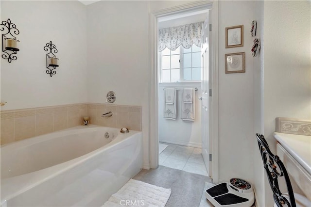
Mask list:
[[[175,88],[164,89],[164,118],[176,120],[176,89]]]

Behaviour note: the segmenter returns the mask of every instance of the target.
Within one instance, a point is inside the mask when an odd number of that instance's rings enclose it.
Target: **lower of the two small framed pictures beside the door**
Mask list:
[[[225,54],[225,73],[245,73],[245,52]]]

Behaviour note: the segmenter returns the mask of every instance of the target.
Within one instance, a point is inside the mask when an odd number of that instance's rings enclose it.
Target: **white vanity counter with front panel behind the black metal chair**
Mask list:
[[[274,132],[276,154],[288,174],[311,200],[311,136]]]

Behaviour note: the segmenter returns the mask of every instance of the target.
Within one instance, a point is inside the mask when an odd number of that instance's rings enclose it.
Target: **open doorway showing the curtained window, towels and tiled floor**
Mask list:
[[[159,164],[208,176],[199,100],[201,33],[207,16],[208,10],[202,9],[158,18],[157,120]]]

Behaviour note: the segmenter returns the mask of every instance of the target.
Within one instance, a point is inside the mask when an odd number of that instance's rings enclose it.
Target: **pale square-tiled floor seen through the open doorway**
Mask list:
[[[160,165],[189,173],[208,176],[201,148],[171,143],[162,144],[166,144],[168,147],[160,153]]]

